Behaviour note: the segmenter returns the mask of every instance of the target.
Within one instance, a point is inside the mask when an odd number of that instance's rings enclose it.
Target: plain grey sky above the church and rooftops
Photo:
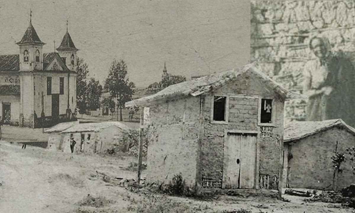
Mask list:
[[[250,59],[249,0],[0,0],[0,54],[18,54],[15,44],[29,25],[54,51],[68,31],[89,75],[104,83],[114,59],[124,60],[137,87],[168,73],[208,75]]]

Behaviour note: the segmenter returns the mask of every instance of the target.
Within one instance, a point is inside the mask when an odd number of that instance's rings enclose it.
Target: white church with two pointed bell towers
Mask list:
[[[76,120],[76,52],[67,30],[57,51],[43,53],[32,20],[19,54],[0,55],[0,116],[5,124],[48,127]]]

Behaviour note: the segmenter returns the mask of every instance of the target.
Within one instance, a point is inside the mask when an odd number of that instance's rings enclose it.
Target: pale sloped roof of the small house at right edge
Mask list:
[[[355,129],[345,124],[342,119],[325,121],[291,121],[285,125],[284,142],[291,142],[307,136],[315,135],[335,126],[344,127],[346,130],[355,135]]]

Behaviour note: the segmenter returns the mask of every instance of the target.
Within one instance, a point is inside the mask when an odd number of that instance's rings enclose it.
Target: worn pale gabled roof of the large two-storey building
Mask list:
[[[203,76],[193,80],[171,85],[153,95],[149,95],[147,97],[143,97],[137,100],[132,100],[130,102],[127,102],[126,107],[131,107],[133,105],[148,106],[159,100],[183,97],[188,95],[198,96],[203,93],[212,91],[214,89],[218,89],[224,86],[225,84],[227,84],[228,82],[236,80],[238,76],[248,71],[255,73],[257,76],[260,77],[260,79],[263,82],[267,83],[267,85],[273,88],[274,91],[276,91],[286,99],[307,98],[307,96],[305,95],[300,95],[298,93],[288,91],[287,89],[283,88],[280,84],[276,83],[274,80],[268,77],[266,74],[259,71],[254,64],[248,64],[241,67],[241,69],[227,70],[213,75]]]

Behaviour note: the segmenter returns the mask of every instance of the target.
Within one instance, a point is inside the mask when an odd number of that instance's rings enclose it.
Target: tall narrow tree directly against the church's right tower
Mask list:
[[[86,89],[87,89],[87,77],[88,77],[88,65],[84,59],[77,57],[76,59],[76,100],[79,113],[84,114],[86,111]]]

